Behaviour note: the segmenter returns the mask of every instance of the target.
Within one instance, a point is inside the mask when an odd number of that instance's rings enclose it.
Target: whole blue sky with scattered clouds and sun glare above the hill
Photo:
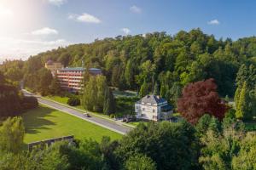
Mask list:
[[[254,0],[0,0],[0,63],[96,38],[201,28],[254,36]]]

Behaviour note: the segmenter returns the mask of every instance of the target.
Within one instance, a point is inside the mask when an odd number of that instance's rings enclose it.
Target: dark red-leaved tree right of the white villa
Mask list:
[[[221,121],[227,109],[218,97],[213,78],[188,84],[183,88],[183,96],[177,100],[177,111],[192,124],[204,114],[215,116]]]

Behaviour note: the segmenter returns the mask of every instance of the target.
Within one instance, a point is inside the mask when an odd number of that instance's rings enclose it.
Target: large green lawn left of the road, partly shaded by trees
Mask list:
[[[110,136],[111,139],[122,137],[119,133],[44,105],[26,112],[22,117],[26,127],[25,143],[65,135],[74,135],[76,139],[91,138],[96,141],[101,141],[102,136]]]

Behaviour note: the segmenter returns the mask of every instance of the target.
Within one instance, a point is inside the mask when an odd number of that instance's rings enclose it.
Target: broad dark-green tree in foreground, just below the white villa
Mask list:
[[[191,169],[197,165],[196,147],[195,129],[188,122],[149,122],[124,136],[115,152],[124,163],[143,154],[157,169]]]

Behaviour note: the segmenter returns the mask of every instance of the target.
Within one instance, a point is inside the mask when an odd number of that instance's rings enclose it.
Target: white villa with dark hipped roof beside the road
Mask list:
[[[137,119],[153,121],[167,120],[172,117],[172,106],[166,99],[156,95],[146,95],[135,104]]]

